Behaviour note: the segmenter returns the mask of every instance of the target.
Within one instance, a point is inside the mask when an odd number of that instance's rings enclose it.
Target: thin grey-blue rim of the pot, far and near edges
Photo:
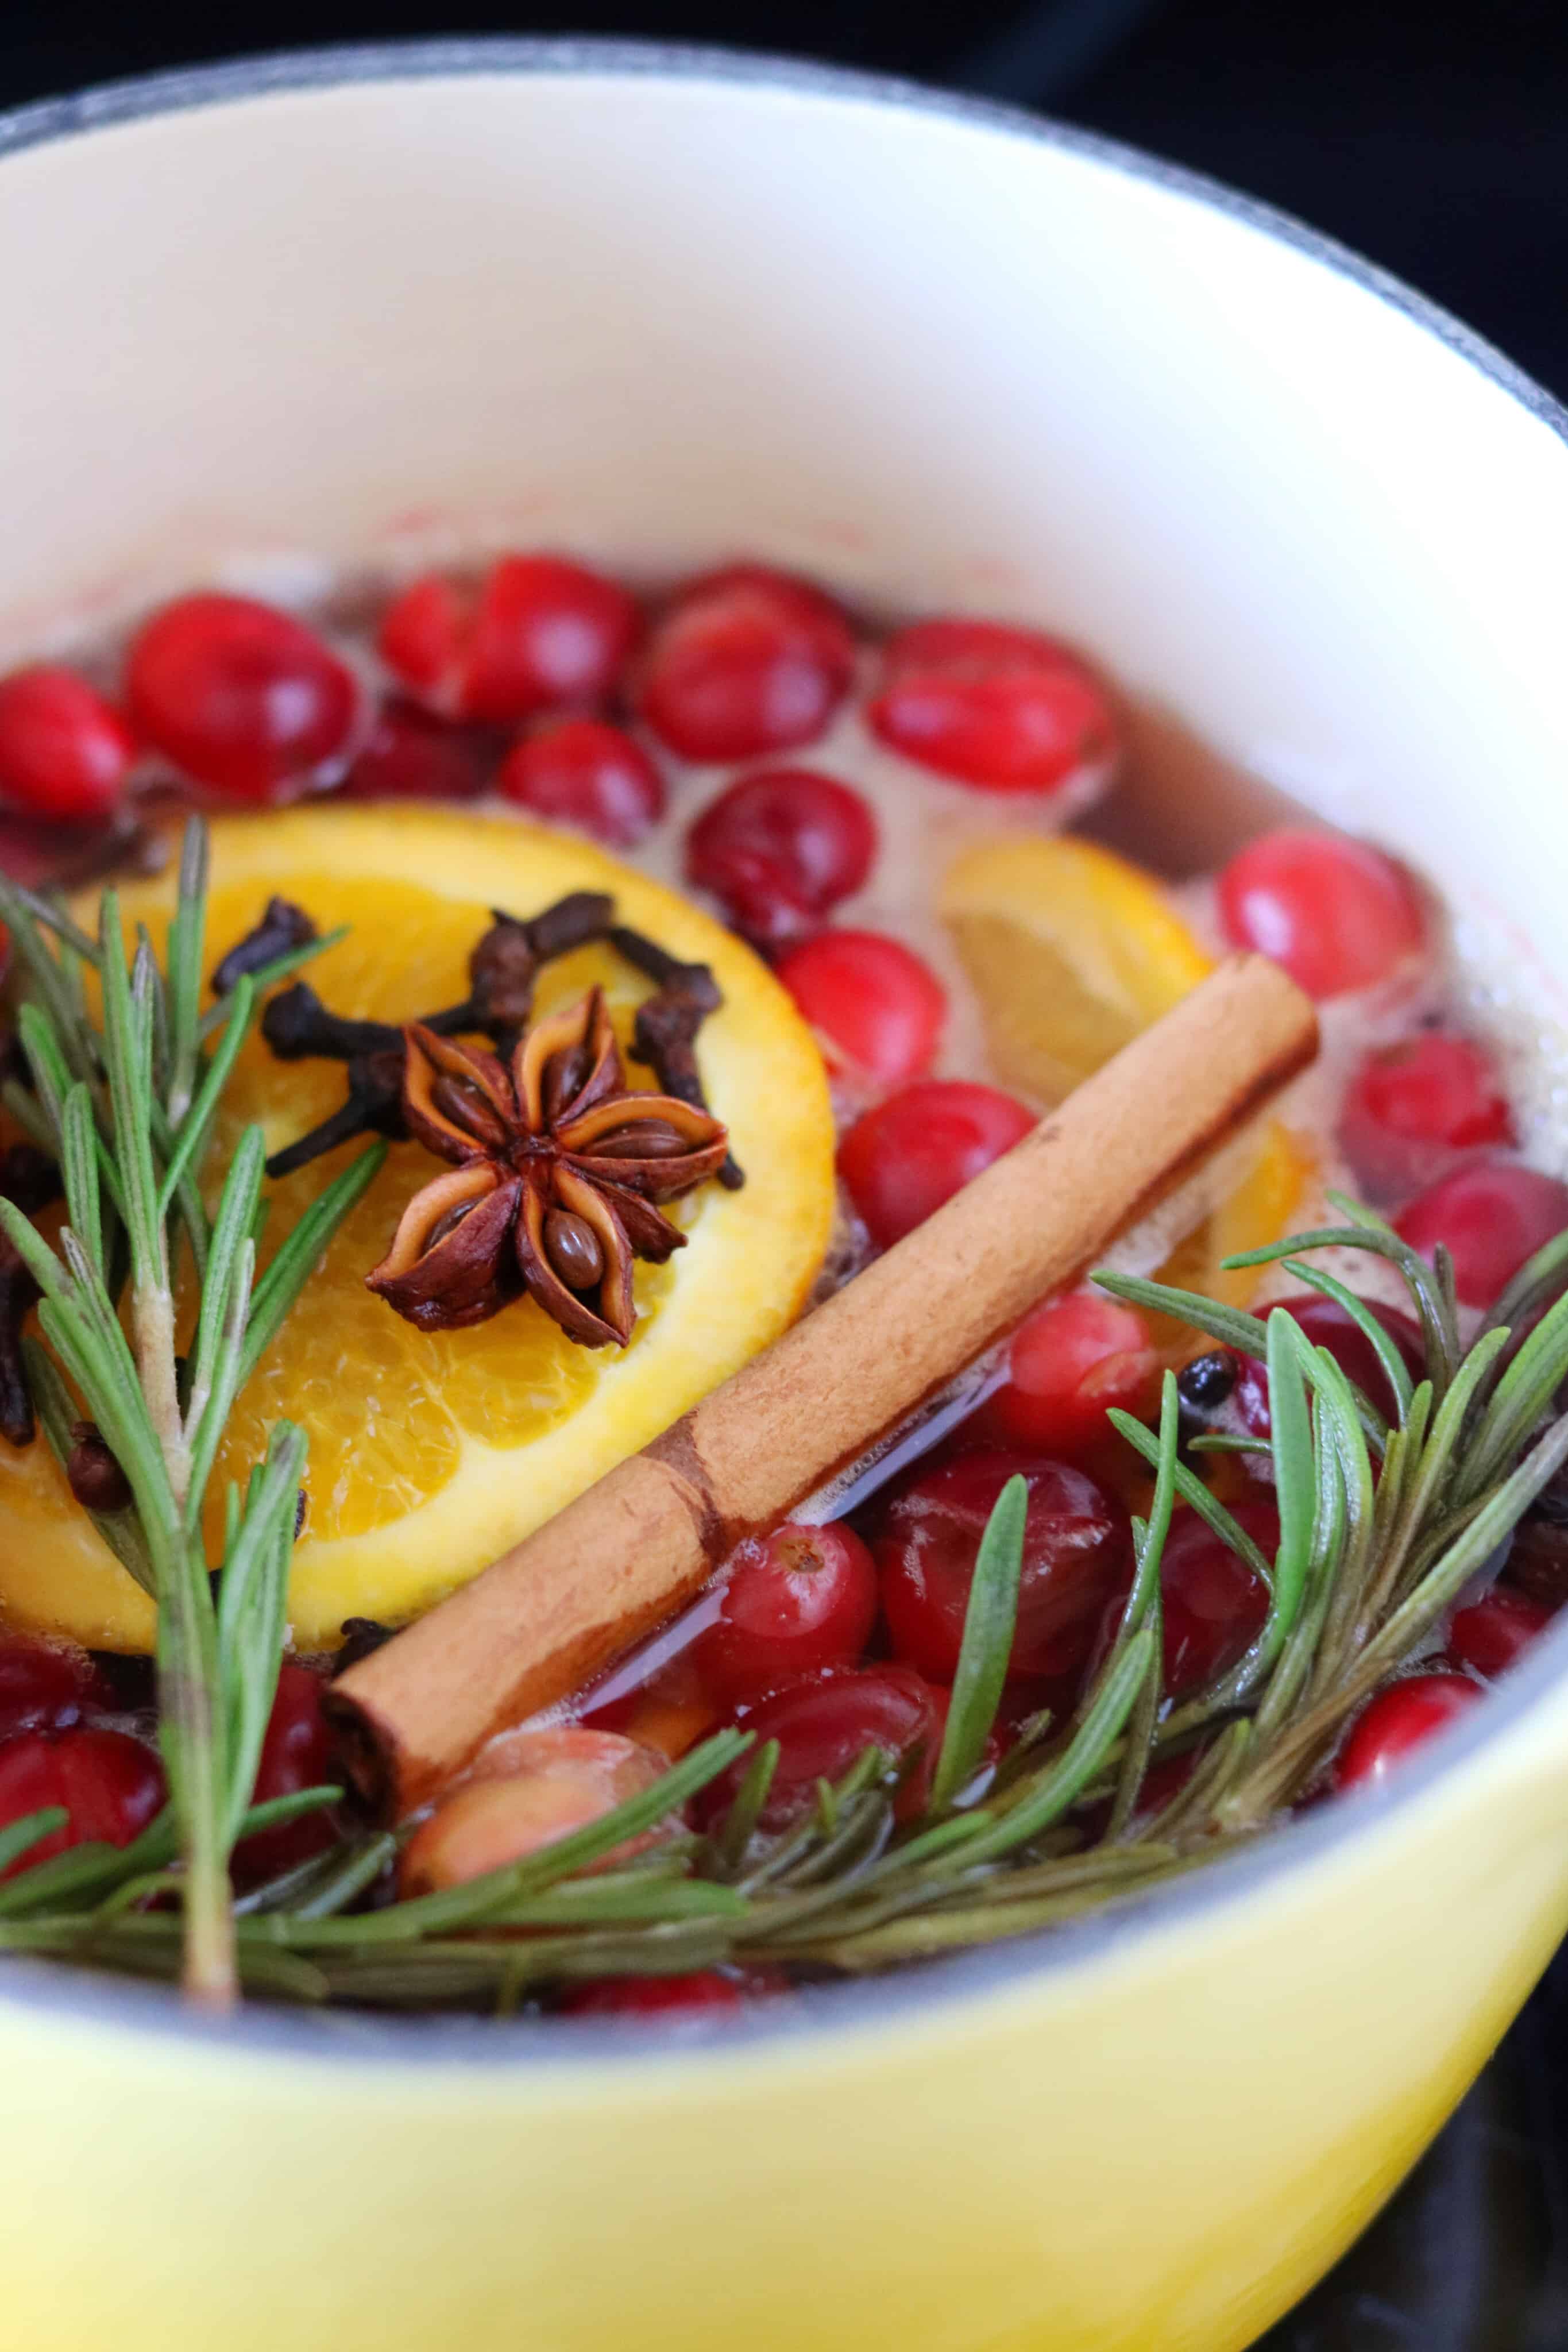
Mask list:
[[[1175,198],[1206,205],[1349,280],[1474,367],[1568,445],[1568,409],[1493,343],[1403,285],[1401,278],[1366,261],[1335,238],[1307,228],[1291,214],[1241,195],[1201,172],[1190,172],[1185,165],[1145,155],[1119,139],[1105,139],[1098,132],[1077,129],[992,99],[933,89],[896,75],[858,73],[846,66],[614,38],[527,40],[498,35],[277,49],[216,66],[188,66],[103,82],[0,113],[0,162],[87,132],[202,106],[348,85],[463,75],[599,75],[783,89],[804,99],[931,115],[938,122],[957,122],[999,139],[1023,139],[1081,155]],[[1037,1978],[1093,1966],[1100,1957],[1121,1955],[1145,1933],[1232,1905],[1269,1884],[1279,1872],[1319,1860],[1347,1839],[1373,1830],[1392,1809],[1420,1802],[1436,1778],[1458,1771],[1481,1748],[1500,1740],[1561,1682],[1563,1665],[1568,1665],[1568,1611],[1563,1623],[1537,1644],[1535,1656],[1514,1668],[1502,1689],[1488,1693],[1483,1708],[1441,1733],[1422,1757],[1408,1762],[1389,1790],[1356,1792],[1305,1818],[1281,1823],[1244,1853],[1220,1858],[1112,1915],[1041,1929],[1004,1945],[954,1952],[917,1969],[839,1985],[806,1985],[788,2002],[759,2004],[752,2016],[715,2023],[696,2037],[691,2027],[672,2030],[670,2020],[654,2025],[576,2020],[571,2032],[541,2032],[534,2020],[317,2013],[261,2006],[244,2006],[233,2018],[214,2020],[179,2006],[169,1987],[136,1985],[61,1962],[31,1959],[0,1962],[0,2002],[38,2016],[129,2027],[150,2037],[216,2042],[235,2053],[289,2053],[336,2060],[339,2065],[371,2063],[381,2067],[388,2060],[400,2060],[421,2070],[430,2065],[484,2067],[491,2079],[501,2065],[508,2067],[508,2079],[520,2065],[550,2072],[567,2067],[581,2074],[585,2067],[602,2070],[611,2056],[618,2063],[632,2060],[637,2065],[689,2063],[696,2056],[726,2053],[736,2046],[780,2049],[802,2037],[820,2042],[844,2030],[893,2027],[910,2013],[924,2016],[931,2009],[973,2004],[990,1992],[1023,1990]]]

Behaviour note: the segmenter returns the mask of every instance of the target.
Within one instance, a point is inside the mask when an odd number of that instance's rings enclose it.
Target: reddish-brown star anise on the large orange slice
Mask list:
[[[402,1115],[451,1162],[414,1195],[367,1275],[423,1331],[487,1322],[524,1289],[585,1348],[632,1336],[632,1261],[686,1235],[656,1202],[724,1167],[724,1127],[672,1094],[628,1089],[604,995],[484,1047],[404,1035]]]

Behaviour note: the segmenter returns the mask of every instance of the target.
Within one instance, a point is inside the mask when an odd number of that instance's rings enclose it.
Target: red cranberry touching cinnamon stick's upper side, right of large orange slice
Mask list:
[[[1034,1112],[997,1087],[924,1077],[856,1120],[839,1176],[872,1242],[889,1249],[1032,1127]]]

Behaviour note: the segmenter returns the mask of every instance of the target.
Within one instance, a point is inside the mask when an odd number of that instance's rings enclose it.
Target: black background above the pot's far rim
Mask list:
[[[736,42],[1044,106],[1328,228],[1568,393],[1566,0],[0,0],[0,99],[411,33]]]

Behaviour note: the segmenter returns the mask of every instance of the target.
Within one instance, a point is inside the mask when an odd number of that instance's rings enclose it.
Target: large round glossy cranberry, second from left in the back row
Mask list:
[[[127,673],[136,734],[221,800],[306,790],[339,760],[360,689],[287,612],[188,595],[139,630]]]

